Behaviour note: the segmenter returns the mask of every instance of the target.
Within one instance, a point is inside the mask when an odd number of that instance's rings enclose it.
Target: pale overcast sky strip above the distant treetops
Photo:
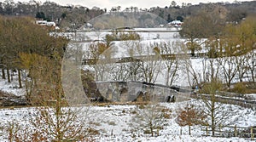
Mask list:
[[[0,0],[3,2],[4,0]],[[15,0],[15,2],[28,2],[29,0]],[[165,7],[170,6],[172,0],[36,0],[42,3],[46,1],[55,2],[61,5],[73,4],[73,5],[82,5],[87,8],[92,8],[94,6],[101,9],[107,8],[108,10],[114,6],[121,6],[121,9],[125,9],[131,6],[136,6],[138,8],[151,8],[151,7]],[[175,0],[178,5],[182,3],[217,3],[217,2],[229,2],[233,3],[235,0]],[[253,0],[237,0],[238,2],[243,1],[253,1]],[[255,0],[254,0],[255,1]]]

